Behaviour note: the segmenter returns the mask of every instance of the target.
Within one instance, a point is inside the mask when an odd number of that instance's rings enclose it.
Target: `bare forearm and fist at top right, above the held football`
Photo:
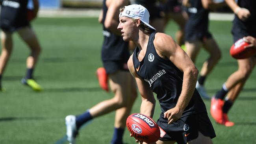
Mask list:
[[[225,2],[239,19],[245,21],[250,17],[250,11],[248,9],[239,7],[235,0],[225,0]]]

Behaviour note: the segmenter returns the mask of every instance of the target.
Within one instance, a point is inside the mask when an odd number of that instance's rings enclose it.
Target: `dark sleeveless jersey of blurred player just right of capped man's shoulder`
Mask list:
[[[208,31],[209,10],[204,9],[201,0],[189,0],[190,7],[187,8],[189,19],[186,23],[186,30]]]

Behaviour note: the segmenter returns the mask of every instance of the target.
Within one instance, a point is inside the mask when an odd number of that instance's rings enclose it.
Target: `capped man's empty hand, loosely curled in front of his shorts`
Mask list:
[[[164,118],[168,118],[168,124],[171,124],[178,120],[182,116],[183,111],[180,110],[178,107],[174,107],[169,109],[164,114]]]

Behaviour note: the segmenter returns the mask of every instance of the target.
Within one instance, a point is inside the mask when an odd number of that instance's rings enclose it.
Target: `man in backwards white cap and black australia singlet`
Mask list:
[[[137,45],[128,67],[141,94],[140,113],[153,116],[153,92],[160,103],[157,124],[163,131],[156,144],[212,144],[215,132],[195,90],[198,70],[193,61],[172,37],[155,32],[145,7],[134,4],[120,11],[118,29],[122,37]]]

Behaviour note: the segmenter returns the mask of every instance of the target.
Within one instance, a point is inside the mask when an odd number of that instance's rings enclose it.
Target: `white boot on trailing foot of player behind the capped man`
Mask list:
[[[65,123],[67,127],[67,141],[69,142],[69,144],[76,144],[76,135],[78,134],[78,131],[76,129],[76,116],[66,116]]]

